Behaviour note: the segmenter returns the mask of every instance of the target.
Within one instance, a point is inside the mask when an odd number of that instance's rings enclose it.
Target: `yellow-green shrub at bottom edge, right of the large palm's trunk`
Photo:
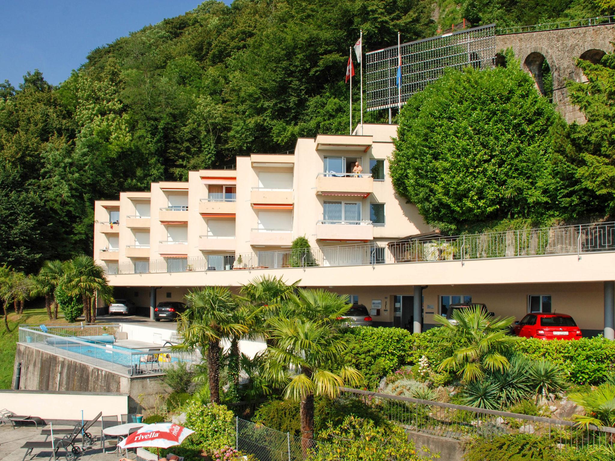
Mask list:
[[[373,421],[354,416],[346,417],[338,427],[328,427],[318,439],[318,452],[310,452],[306,461],[410,461],[437,458],[426,449],[422,455],[418,454],[401,427],[377,427]]]

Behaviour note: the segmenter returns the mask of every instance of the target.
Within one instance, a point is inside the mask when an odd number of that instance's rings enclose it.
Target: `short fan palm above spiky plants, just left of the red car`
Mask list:
[[[485,371],[504,371],[510,363],[506,358],[517,337],[507,333],[514,317],[491,318],[480,305],[455,310],[453,322],[442,315],[434,315],[442,326],[435,331],[448,355],[438,366],[438,371],[454,371],[466,382],[485,377]]]

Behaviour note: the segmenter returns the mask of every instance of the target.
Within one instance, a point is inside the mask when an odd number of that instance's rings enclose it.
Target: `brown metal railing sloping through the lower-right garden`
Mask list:
[[[475,436],[533,434],[557,441],[561,450],[584,446],[612,447],[615,428],[577,426],[573,421],[487,410],[366,390],[340,388],[340,398],[360,400],[407,430],[457,440]]]

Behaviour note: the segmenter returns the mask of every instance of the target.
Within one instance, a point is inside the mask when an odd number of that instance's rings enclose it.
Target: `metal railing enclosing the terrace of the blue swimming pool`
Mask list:
[[[112,339],[117,326],[62,325],[43,328],[43,326],[20,325],[19,342],[128,376],[162,374],[165,369],[175,366],[180,361],[192,366],[200,360],[196,353],[176,352],[164,347],[141,350],[117,345]],[[111,331],[113,333],[110,333]],[[106,340],[106,337],[109,339]]]

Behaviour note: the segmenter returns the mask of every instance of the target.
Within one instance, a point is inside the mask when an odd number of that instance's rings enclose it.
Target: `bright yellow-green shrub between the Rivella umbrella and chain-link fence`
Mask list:
[[[210,403],[202,405],[196,401],[186,408],[185,426],[194,431],[184,445],[207,454],[215,449],[231,445],[235,440],[235,416],[224,405]]]

